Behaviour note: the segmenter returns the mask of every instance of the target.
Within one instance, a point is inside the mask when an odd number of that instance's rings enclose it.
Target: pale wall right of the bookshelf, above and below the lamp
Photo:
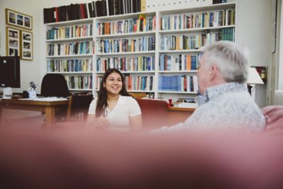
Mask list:
[[[230,1],[229,2],[233,2]],[[271,1],[237,0],[236,42],[250,50],[250,65],[270,67]],[[268,76],[267,76],[268,79]],[[267,105],[267,84],[257,85],[255,102]]]

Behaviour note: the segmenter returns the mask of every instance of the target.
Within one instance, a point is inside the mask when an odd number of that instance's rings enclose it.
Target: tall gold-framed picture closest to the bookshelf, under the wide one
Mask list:
[[[21,30],[21,59],[33,60],[33,33]]]

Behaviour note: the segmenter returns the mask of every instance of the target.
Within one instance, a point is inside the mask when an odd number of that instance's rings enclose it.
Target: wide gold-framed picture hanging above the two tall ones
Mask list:
[[[18,11],[5,8],[6,24],[14,27],[23,28],[25,30],[33,30],[33,16]]]

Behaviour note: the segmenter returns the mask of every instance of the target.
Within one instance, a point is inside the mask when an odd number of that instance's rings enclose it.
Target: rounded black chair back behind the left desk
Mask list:
[[[67,97],[70,95],[67,81],[62,74],[46,74],[41,83],[42,96]]]

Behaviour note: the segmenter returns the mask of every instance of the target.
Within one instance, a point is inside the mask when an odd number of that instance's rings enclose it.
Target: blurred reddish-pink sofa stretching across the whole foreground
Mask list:
[[[283,188],[283,106],[261,133],[0,132],[0,188]]]

